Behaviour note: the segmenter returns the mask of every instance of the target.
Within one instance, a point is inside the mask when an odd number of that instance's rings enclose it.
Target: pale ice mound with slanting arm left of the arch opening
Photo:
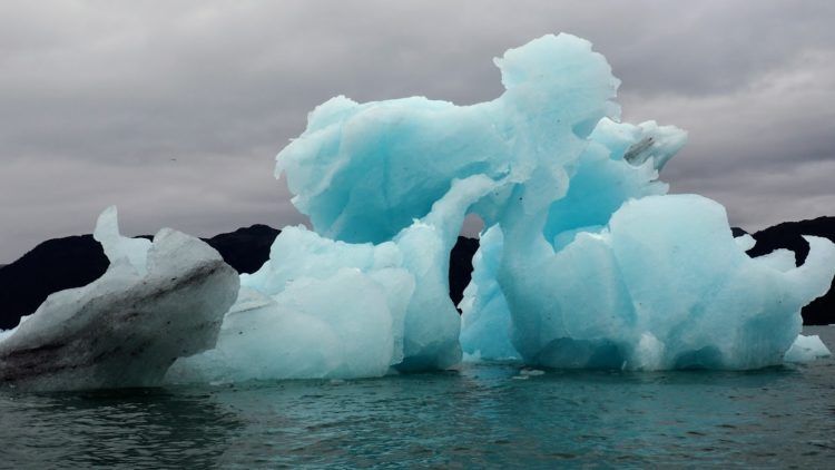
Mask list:
[[[242,275],[217,346],[180,359],[171,382],[381,376],[461,360],[449,297],[449,252],[464,208],[495,183],[452,184],[430,214],[393,241],[345,243],[285,228],[269,261]]]

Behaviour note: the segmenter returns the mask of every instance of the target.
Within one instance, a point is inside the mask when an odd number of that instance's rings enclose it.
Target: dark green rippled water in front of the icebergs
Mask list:
[[[835,350],[835,326],[807,329]],[[835,468],[835,360],[0,393],[2,468]]]

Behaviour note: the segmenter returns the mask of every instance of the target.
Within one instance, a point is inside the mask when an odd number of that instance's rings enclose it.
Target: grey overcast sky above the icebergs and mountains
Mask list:
[[[593,4],[593,6],[592,6]],[[835,215],[834,1],[0,2],[0,263],[89,233],[304,221],[274,156],[334,95],[497,97],[492,58],[591,40],[623,119],[689,131],[662,178],[733,224]]]

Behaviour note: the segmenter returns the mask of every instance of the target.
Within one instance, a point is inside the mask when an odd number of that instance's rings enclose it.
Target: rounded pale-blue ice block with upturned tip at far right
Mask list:
[[[599,233],[497,275],[512,277],[502,283],[512,342],[528,363],[754,369],[782,362],[800,307],[828,290],[835,249],[808,242],[814,260],[782,272],[739,249],[720,205],[648,196],[627,202]]]

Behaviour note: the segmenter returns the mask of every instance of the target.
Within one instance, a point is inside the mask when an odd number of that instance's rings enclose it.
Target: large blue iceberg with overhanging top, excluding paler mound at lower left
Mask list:
[[[316,108],[276,166],[314,229],[385,243],[480,174],[493,188],[460,208],[488,227],[461,304],[466,353],[557,368],[780,363],[800,307],[826,292],[832,244],[811,239],[800,267],[752,260],[721,206],[666,195],[659,172],[686,133],[619,123],[619,81],[588,41],[546,36],[495,62],[505,91],[491,101]]]

